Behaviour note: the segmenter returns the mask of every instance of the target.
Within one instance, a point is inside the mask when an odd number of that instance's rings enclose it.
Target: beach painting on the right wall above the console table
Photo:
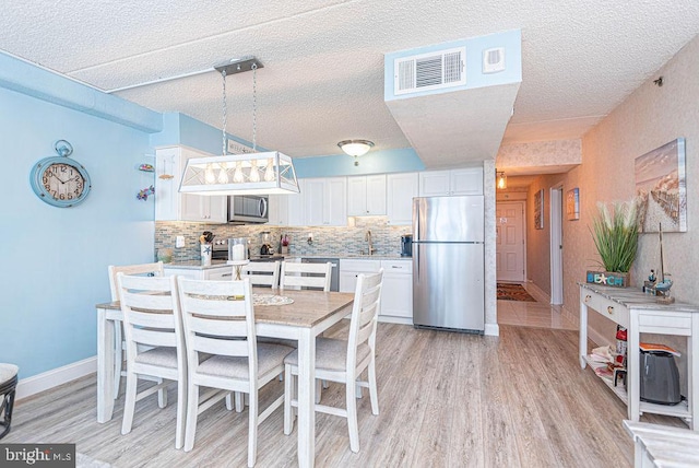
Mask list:
[[[685,139],[678,138],[636,159],[640,232],[687,232]]]

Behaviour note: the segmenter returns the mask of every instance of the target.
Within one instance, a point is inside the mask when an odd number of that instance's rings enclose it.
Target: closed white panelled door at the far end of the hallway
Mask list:
[[[524,282],[524,202],[495,208],[497,281]]]

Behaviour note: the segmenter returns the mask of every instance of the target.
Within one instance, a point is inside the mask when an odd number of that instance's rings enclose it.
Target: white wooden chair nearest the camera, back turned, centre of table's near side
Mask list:
[[[248,394],[248,466],[257,457],[258,425],[282,406],[281,396],[258,416],[258,389],[284,370],[292,348],[258,343],[250,280],[196,281],[178,278],[188,359],[185,452],[194,446],[197,417],[230,391]],[[200,353],[213,354],[199,363]],[[203,395],[199,387],[225,391]],[[236,399],[238,407],[238,399]]]

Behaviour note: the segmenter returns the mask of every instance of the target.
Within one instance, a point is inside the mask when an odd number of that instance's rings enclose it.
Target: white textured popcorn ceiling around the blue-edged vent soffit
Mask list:
[[[7,3],[0,49],[103,90],[257,56],[257,142],[292,156],[336,154],[353,138],[408,147],[383,103],[386,52],[521,28],[512,144],[580,138],[699,32],[696,0]],[[221,128],[221,81],[212,71],[116,94]],[[227,130],[251,140],[252,73],[227,90]]]

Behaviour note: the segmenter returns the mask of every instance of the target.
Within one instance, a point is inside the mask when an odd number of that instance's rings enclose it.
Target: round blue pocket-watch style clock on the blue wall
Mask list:
[[[54,145],[58,156],[39,160],[29,174],[32,189],[39,199],[59,208],[69,208],[82,202],[92,185],[85,167],[69,159],[73,147],[59,140]]]

